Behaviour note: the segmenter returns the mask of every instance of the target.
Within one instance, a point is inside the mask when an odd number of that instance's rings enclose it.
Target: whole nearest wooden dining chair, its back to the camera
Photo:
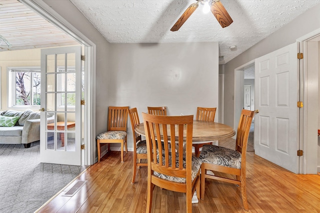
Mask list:
[[[192,212],[192,196],[199,199],[201,160],[192,156],[193,116],[159,116],[142,113],[147,147],[147,202],[151,212],[154,186],[186,194],[186,212]],[[183,131],[186,149],[183,151]],[[156,143],[162,140],[163,143]],[[175,141],[178,149],[169,148]],[[163,146],[163,148],[162,148]]]

